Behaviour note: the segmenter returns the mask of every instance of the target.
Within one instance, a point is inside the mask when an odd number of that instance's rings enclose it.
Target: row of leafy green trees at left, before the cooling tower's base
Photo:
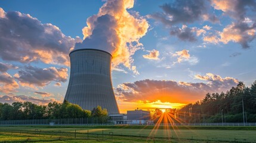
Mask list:
[[[63,103],[50,102],[48,105],[36,105],[32,102],[0,103],[0,120],[68,119],[107,115],[106,108],[97,106],[92,111],[83,110],[79,105],[66,100]]]

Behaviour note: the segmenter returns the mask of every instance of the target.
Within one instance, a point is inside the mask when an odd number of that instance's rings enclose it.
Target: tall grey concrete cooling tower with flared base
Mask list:
[[[100,105],[109,114],[119,114],[111,79],[109,52],[76,49],[69,54],[70,77],[65,100],[92,110]]]

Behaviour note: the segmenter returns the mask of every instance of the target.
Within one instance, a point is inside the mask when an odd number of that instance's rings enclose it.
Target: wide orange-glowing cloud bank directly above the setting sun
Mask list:
[[[174,80],[140,80],[134,83],[122,83],[115,89],[118,100],[129,102],[180,102],[189,103],[200,100],[207,92],[227,91],[238,84],[232,77],[220,77],[208,73],[196,78],[207,83],[176,82]]]

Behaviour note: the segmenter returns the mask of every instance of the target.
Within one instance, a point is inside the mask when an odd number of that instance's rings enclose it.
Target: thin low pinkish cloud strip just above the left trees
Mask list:
[[[8,103],[12,104],[13,102],[33,102],[35,104],[39,105],[47,105],[49,102],[54,102],[54,98],[51,98],[50,100],[44,100],[44,99],[38,99],[35,97],[27,97],[25,95],[16,95],[16,96],[10,96],[10,95],[0,95],[0,102],[2,103]],[[59,101],[58,101],[59,102]]]

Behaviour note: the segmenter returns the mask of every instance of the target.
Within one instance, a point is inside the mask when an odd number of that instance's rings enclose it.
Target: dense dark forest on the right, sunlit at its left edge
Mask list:
[[[256,80],[250,88],[239,82],[226,93],[208,93],[203,100],[187,104],[176,114],[186,123],[255,123]]]

